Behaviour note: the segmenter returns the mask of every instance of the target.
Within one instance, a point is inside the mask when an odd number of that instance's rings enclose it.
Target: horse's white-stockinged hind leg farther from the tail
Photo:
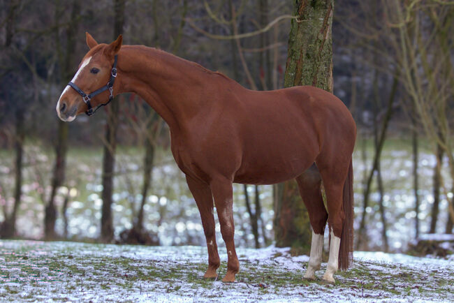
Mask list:
[[[309,265],[305,272],[305,279],[316,279],[315,271],[320,269],[321,254],[323,252],[323,234],[325,232],[328,213],[321,196],[321,175],[318,168],[313,164],[299,177],[296,178],[303,202],[309,213],[309,221],[312,226],[311,254]]]

